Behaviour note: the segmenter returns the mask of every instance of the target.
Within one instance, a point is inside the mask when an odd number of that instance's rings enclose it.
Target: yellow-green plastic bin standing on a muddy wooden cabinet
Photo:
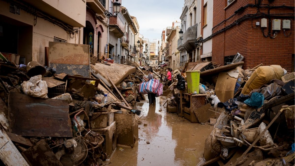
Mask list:
[[[186,71],[186,82],[187,91],[189,94],[196,93],[199,94],[199,84],[200,84],[200,72],[199,70]]]

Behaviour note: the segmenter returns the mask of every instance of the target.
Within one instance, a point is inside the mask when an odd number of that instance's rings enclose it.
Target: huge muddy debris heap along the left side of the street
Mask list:
[[[0,142],[6,143],[0,144],[0,161],[101,165],[117,144],[134,146],[138,69],[109,62],[90,67],[91,78],[35,61],[0,61]]]

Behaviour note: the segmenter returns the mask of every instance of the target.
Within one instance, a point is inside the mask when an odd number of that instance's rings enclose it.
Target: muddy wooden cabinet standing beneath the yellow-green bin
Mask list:
[[[191,121],[191,123],[198,123],[198,119],[194,110],[207,103],[205,94],[189,94],[180,92],[180,111],[179,116]]]

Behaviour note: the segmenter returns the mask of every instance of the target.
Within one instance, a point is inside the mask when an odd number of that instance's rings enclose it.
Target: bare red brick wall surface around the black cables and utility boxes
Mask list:
[[[267,0],[262,1],[262,6],[267,5],[269,2]],[[244,11],[235,14],[229,20],[222,22],[224,19],[229,18],[234,14],[234,12],[241,6],[247,4],[255,4],[254,0],[236,0],[230,6],[227,6],[226,0],[215,0],[213,4],[213,33],[221,30],[227,25],[232,24],[235,20],[243,17],[245,14],[256,14],[256,7],[248,7]],[[286,6],[295,6],[294,0],[275,0],[270,6],[281,6],[285,4]],[[202,0],[203,5],[203,0]],[[227,7],[226,7],[227,6]],[[226,7],[226,9],[224,9]],[[268,8],[260,8],[260,12],[268,13]],[[294,13],[294,10],[287,8],[276,8],[271,9],[270,14],[281,14],[281,13]],[[202,15],[203,15],[202,10]],[[271,39],[269,37],[265,38],[260,27],[255,26],[255,22],[261,22],[260,17],[252,19],[245,19],[239,22],[226,31],[214,35],[212,38],[212,61],[218,64],[224,64],[224,56],[234,55],[235,53],[241,53],[244,59],[244,69],[250,69],[256,65],[263,63],[264,65],[279,64],[287,71],[291,71],[292,67],[292,54],[294,54],[294,17],[293,18],[278,18],[271,17],[272,19],[281,19],[281,24],[283,19],[291,19],[292,22],[292,33],[290,36],[284,36],[283,30],[278,32],[276,38]],[[203,19],[203,17],[201,17]],[[222,22],[220,25],[220,22]],[[203,20],[201,20],[201,27],[203,26]],[[268,26],[272,26],[268,25]],[[281,25],[282,28],[282,25]],[[272,28],[271,28],[272,29]],[[265,28],[265,34],[267,35],[268,27]],[[271,30],[271,32],[273,32]],[[291,32],[291,30],[286,30],[286,34]],[[202,34],[202,28],[201,28]]]

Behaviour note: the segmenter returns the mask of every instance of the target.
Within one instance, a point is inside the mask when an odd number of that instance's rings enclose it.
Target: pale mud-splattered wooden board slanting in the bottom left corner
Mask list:
[[[8,135],[0,129],[0,160],[4,165],[9,166],[29,166],[14,146]]]

